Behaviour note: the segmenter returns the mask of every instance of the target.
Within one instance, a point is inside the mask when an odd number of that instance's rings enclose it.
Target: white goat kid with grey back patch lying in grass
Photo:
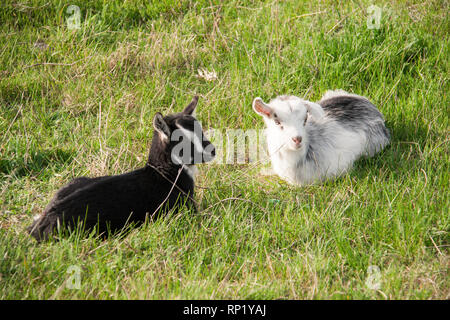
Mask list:
[[[341,175],[363,155],[389,144],[383,115],[365,97],[328,91],[318,103],[279,96],[253,109],[266,123],[272,168],[295,185]]]

